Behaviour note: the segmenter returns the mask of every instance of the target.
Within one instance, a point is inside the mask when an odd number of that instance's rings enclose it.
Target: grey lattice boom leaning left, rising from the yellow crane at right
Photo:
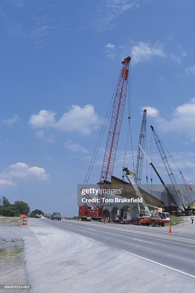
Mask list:
[[[182,199],[182,194],[181,194],[180,189],[179,189],[179,187],[177,185],[177,182],[175,180],[175,177],[174,177],[173,172],[172,172],[171,167],[170,167],[170,163],[169,163],[169,161],[167,159],[167,156],[166,156],[165,151],[163,149],[163,146],[161,144],[161,139],[158,136],[158,134],[156,133],[156,131],[154,130],[154,127],[152,125],[150,127],[152,129],[152,133],[153,133],[153,136],[154,136],[154,140],[156,142],[156,146],[157,146],[158,151],[159,151],[159,153],[161,155],[161,158],[162,158],[163,163],[165,165],[165,168],[167,170],[168,176],[169,176],[169,178],[171,180],[173,189],[175,190],[175,193],[176,193],[179,201],[181,202],[182,207],[185,209],[184,202],[183,202],[183,199]]]

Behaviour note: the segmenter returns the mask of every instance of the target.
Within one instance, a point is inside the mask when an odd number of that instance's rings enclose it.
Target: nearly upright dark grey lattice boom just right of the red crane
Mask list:
[[[141,130],[139,134],[139,145],[141,145],[142,149],[145,148],[146,142],[146,109],[144,109],[144,114],[141,123]],[[139,146],[137,149],[137,163],[136,163],[136,171],[135,171],[135,184],[140,187],[141,185],[141,174],[143,167],[144,154],[141,152]]]

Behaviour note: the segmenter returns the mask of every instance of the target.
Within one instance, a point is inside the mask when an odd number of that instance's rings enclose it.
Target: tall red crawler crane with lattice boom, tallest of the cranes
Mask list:
[[[115,100],[113,103],[113,110],[111,116],[111,123],[108,132],[108,139],[106,143],[106,150],[103,159],[103,165],[101,170],[101,176],[99,183],[99,195],[98,202],[92,203],[93,209],[87,205],[79,207],[79,216],[82,220],[87,217],[91,217],[94,220],[101,220],[102,217],[107,217],[107,214],[103,212],[107,193],[104,193],[103,184],[105,181],[111,182],[111,176],[113,173],[115,156],[118,146],[118,139],[120,134],[120,127],[122,122],[122,116],[125,106],[125,100],[127,95],[127,84],[129,76],[129,65],[131,57],[127,57],[122,61],[122,69],[120,72],[119,82],[115,94]],[[90,198],[90,195],[85,193],[86,198]]]

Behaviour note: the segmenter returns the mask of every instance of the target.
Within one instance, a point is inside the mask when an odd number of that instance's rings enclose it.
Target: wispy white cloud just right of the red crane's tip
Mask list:
[[[160,44],[160,42],[156,42],[153,46],[149,42],[139,42],[132,47],[130,56],[134,63],[142,62],[153,56],[165,57],[163,47],[164,44]]]

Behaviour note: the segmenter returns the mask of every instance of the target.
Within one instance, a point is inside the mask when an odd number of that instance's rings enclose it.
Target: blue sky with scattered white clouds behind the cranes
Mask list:
[[[31,210],[78,214],[77,184],[129,55],[134,155],[146,108],[148,154],[153,125],[194,184],[194,6],[191,0],[1,1],[0,196]],[[113,172],[119,178],[128,114],[126,104]],[[90,183],[99,180],[106,139]],[[154,142],[152,160],[169,184]],[[143,184],[145,174],[146,162]]]

